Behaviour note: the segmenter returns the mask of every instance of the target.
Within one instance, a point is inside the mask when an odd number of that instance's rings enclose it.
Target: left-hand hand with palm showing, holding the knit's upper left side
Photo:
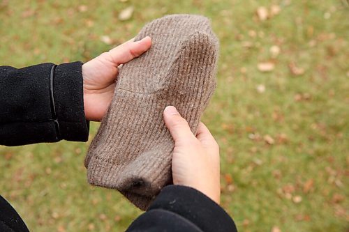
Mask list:
[[[151,47],[149,36],[127,42],[82,65],[84,111],[87,120],[101,121],[114,95],[118,66],[140,56]]]

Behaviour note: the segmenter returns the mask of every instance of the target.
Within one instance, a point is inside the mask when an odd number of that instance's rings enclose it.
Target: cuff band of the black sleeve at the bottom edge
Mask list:
[[[237,231],[234,221],[221,206],[191,187],[164,187],[148,211],[157,209],[177,213],[202,231]]]

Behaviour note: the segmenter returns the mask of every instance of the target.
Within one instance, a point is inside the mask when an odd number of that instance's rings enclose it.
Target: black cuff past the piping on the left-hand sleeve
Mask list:
[[[84,115],[82,63],[63,63],[54,70],[53,91],[59,139],[87,141],[89,121]]]

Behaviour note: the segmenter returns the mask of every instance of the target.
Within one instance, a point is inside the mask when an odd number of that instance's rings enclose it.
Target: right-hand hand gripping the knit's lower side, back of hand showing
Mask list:
[[[200,123],[196,137],[177,109],[163,111],[165,124],[174,139],[172,178],[174,185],[199,190],[216,203],[220,202],[219,147],[207,127]]]

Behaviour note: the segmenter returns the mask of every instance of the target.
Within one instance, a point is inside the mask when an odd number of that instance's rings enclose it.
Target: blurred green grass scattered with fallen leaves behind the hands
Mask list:
[[[346,0],[0,0],[0,65],[89,61],[173,13],[211,18],[221,42],[202,121],[239,230],[348,231]],[[124,231],[140,215],[87,184],[88,146],[0,146],[0,194],[31,231]]]

